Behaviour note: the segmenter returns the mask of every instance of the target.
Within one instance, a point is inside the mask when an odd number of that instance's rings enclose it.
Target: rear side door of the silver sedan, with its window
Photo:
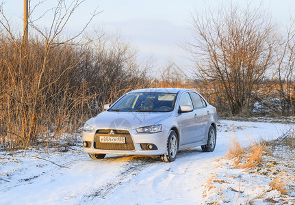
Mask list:
[[[209,110],[205,100],[196,92],[190,92],[192,104],[194,105],[194,114],[196,117],[196,141],[204,139],[209,122]]]

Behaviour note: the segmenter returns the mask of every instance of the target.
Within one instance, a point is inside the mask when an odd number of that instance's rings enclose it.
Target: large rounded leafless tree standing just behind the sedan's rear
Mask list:
[[[192,16],[192,54],[198,77],[225,96],[233,115],[248,115],[255,84],[274,64],[274,26],[261,7],[226,5]],[[221,99],[220,99],[221,100]]]

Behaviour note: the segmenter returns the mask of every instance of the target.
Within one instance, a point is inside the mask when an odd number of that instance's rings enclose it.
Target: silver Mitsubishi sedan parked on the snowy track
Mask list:
[[[216,108],[195,90],[133,90],[104,109],[83,128],[84,151],[92,159],[134,154],[171,162],[179,150],[212,152],[216,146]]]

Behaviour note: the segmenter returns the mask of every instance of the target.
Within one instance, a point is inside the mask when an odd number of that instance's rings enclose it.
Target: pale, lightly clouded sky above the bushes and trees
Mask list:
[[[13,22],[14,27],[23,27],[23,0],[3,1],[5,16]],[[31,0],[36,5],[38,0]],[[71,0],[66,0],[67,3]],[[86,0],[76,12],[66,27],[68,33],[80,31],[87,23],[96,8],[101,12],[92,20],[89,29],[103,27],[110,33],[120,34],[138,50],[138,59],[145,60],[153,57],[153,72],[157,73],[168,61],[173,61],[179,67],[190,66],[188,53],[181,49],[179,44],[192,39],[190,31],[191,14],[202,10],[205,6],[217,7],[220,3],[229,3],[227,0]],[[245,1],[231,0],[244,6]],[[260,1],[247,1],[259,5]],[[53,8],[57,0],[47,0],[40,4],[32,17],[40,16],[44,11]],[[290,14],[295,14],[294,0],[261,0],[266,12],[270,12],[273,20],[285,25]],[[40,27],[50,23],[50,12],[41,20]]]

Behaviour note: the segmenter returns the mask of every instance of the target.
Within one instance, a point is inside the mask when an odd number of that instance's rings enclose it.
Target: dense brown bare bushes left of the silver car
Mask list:
[[[122,38],[93,37],[84,44],[76,40],[81,33],[62,38],[80,3],[58,1],[49,29],[29,22],[36,32],[28,41],[12,31],[1,9],[1,146],[13,156],[36,143],[58,146],[64,133],[77,132],[105,102],[147,85],[146,68],[140,70],[136,52]]]

